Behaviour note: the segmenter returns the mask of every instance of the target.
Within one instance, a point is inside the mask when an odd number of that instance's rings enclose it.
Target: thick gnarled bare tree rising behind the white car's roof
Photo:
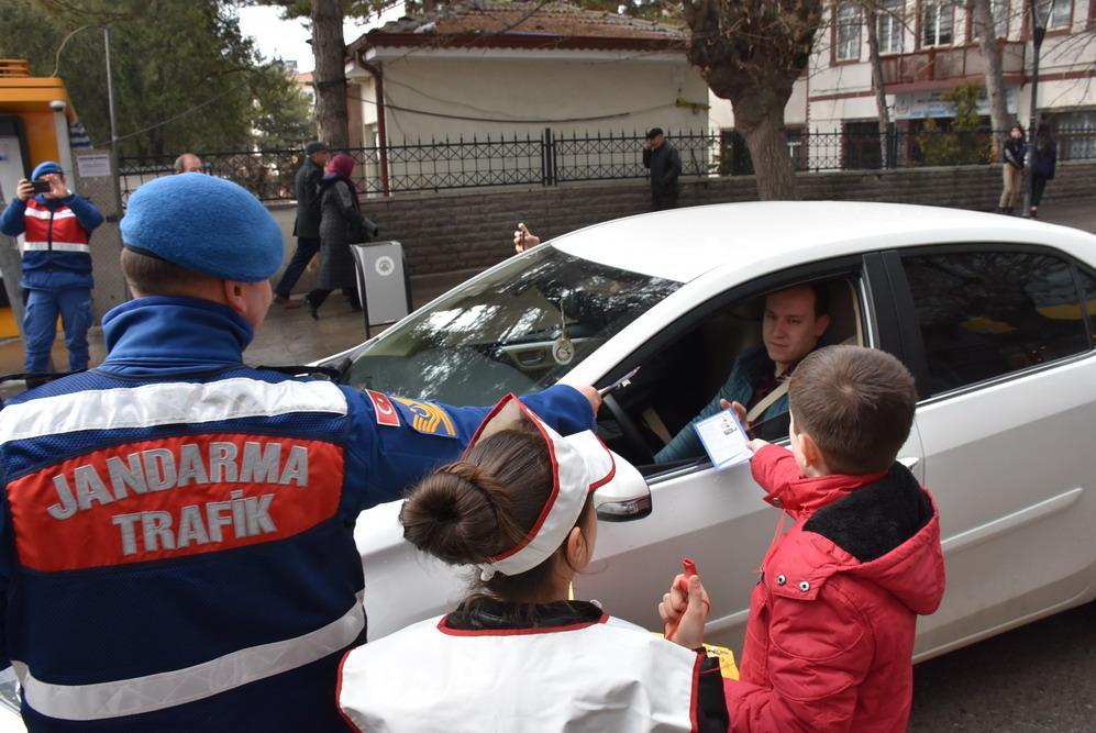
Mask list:
[[[822,0],[685,0],[689,63],[731,102],[761,199],[794,199],[784,108],[810,63]]]

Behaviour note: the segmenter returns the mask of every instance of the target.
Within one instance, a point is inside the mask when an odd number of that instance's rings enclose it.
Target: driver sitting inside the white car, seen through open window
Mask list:
[[[658,451],[655,463],[704,455],[693,423],[732,409],[744,427],[788,411],[787,380],[818,347],[830,325],[829,292],[823,284],[798,285],[768,293],[762,318],[762,344],[742,352],[715,397]],[[760,420],[759,420],[760,419]]]

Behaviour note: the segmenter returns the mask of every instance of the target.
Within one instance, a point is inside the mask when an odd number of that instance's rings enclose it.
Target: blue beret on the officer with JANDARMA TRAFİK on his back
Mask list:
[[[223,280],[258,282],[281,265],[281,227],[258,200],[223,178],[164,176],[130,197],[122,243]]]

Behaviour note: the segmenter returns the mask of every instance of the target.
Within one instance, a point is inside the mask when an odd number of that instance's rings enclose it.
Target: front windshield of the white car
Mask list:
[[[534,392],[678,287],[541,246],[363,346],[346,381],[453,404]]]

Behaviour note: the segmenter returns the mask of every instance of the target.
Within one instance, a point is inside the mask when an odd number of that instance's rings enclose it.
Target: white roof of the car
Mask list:
[[[1089,264],[1096,255],[1096,236],[1078,230],[962,209],[864,201],[674,209],[587,226],[552,245],[602,265],[688,282],[709,270],[754,269],[773,258],[793,265],[879,248],[970,242],[1048,244]]]

